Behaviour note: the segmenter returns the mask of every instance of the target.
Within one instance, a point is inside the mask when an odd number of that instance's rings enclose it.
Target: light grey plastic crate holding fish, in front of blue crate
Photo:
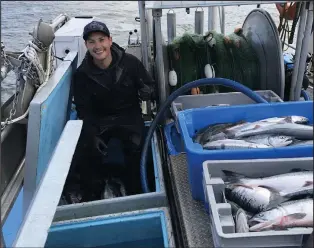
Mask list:
[[[249,177],[266,177],[287,173],[296,167],[313,171],[313,157],[205,161],[205,207],[209,211],[215,247],[302,247],[313,228],[236,233],[231,205],[225,203],[222,196],[225,188],[222,170],[235,171]]]

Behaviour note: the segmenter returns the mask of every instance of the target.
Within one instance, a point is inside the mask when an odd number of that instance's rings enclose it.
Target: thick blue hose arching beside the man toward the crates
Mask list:
[[[263,99],[261,96],[250,90],[248,87],[237,83],[235,81],[232,81],[230,79],[225,79],[225,78],[203,78],[203,79],[198,79],[196,81],[187,83],[180,87],[179,89],[175,90],[165,102],[163,102],[158,110],[158,113],[155,117],[155,119],[152,121],[148,132],[147,136],[143,145],[143,150],[141,154],[141,161],[140,161],[140,174],[141,174],[141,184],[142,184],[142,190],[144,193],[149,193],[149,187],[148,187],[148,182],[147,182],[147,168],[146,168],[146,163],[147,163],[147,151],[149,147],[150,140],[153,136],[153,133],[155,132],[156,126],[158,122],[162,119],[164,116],[164,113],[167,111],[169,108],[170,104],[180,95],[184,94],[188,90],[191,90],[192,88],[204,86],[204,85],[222,85],[225,87],[230,87],[233,88],[236,91],[240,91],[252,100],[254,100],[257,103],[268,103],[265,99]]]

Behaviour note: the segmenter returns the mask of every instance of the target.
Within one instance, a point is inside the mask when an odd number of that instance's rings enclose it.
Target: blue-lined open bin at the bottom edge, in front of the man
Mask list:
[[[167,208],[52,223],[45,247],[175,247]]]

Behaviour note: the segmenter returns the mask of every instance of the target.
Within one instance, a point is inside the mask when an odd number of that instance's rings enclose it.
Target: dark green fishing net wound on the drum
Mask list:
[[[172,90],[194,80],[205,78],[204,67],[211,64],[215,77],[239,82],[252,90],[260,89],[259,61],[251,44],[238,29],[230,35],[215,31],[206,35],[185,33],[168,45],[170,69],[177,73],[178,83]],[[231,92],[224,86],[204,86],[202,93]]]

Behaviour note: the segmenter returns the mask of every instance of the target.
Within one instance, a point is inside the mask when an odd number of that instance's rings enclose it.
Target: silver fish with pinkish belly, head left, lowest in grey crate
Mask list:
[[[313,227],[313,199],[288,201],[249,220],[250,231]]]

